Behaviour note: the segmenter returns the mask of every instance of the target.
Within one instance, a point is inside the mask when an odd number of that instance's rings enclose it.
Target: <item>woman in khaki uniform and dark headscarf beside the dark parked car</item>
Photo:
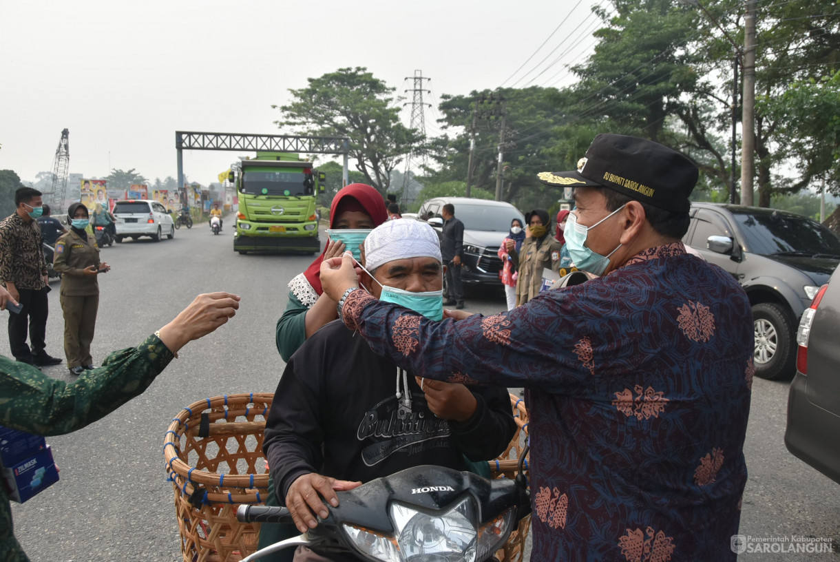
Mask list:
[[[513,249],[510,256],[513,265],[519,271],[517,278],[517,307],[530,301],[539,294],[543,285],[543,268],[554,271],[560,269],[560,250],[563,244],[549,234],[549,212],[534,209],[525,215],[528,223],[522,247],[517,252]]]

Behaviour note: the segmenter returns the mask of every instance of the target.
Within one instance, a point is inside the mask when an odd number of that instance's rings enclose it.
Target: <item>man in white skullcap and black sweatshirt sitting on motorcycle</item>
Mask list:
[[[374,297],[441,318],[444,266],[432,227],[388,221],[364,249],[362,285]],[[336,491],[417,465],[480,466],[516,428],[505,389],[415,378],[354,335],[335,321],[307,339],[286,365],[265,426],[277,500],[301,532],[326,515],[324,500],[338,503]],[[306,547],[295,556],[338,559]]]

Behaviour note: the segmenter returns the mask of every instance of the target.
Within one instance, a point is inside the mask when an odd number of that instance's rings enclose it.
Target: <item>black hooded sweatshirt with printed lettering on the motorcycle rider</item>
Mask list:
[[[396,365],[338,320],[291,356],[274,395],[263,450],[277,500],[299,476],[370,481],[417,465],[466,470],[464,456],[492,460],[516,430],[507,390],[470,387],[477,406],[465,423],[436,418],[407,374],[411,407],[396,398]],[[404,392],[402,375],[400,391]]]

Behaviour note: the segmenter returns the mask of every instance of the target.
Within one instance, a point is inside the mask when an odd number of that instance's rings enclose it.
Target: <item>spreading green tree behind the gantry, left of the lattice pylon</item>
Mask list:
[[[365,183],[386,193],[391,171],[403,157],[425,150],[423,137],[400,123],[396,88],[360,66],[307,81],[307,87],[289,90],[293,101],[279,108],[277,126],[298,134],[348,137],[350,158]]]

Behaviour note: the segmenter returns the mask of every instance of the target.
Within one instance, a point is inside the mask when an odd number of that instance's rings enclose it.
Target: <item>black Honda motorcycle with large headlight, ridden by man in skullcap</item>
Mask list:
[[[524,459],[524,455],[522,456]],[[256,551],[242,562],[299,545],[363,560],[482,562],[531,512],[520,462],[516,480],[488,480],[442,466],[415,466],[339,491],[318,527]],[[241,505],[242,523],[292,523],[286,507]]]

